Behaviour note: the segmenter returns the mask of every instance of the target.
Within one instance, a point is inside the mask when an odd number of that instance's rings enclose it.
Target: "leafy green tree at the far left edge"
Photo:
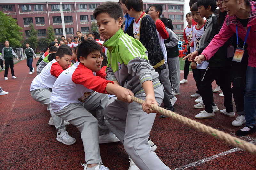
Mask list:
[[[23,33],[20,30],[22,28],[16,22],[16,19],[0,11],[0,42],[4,43],[5,40],[8,40],[12,47],[21,46]]]

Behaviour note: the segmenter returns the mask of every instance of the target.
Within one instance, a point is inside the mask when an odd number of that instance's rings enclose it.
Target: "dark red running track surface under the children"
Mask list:
[[[33,66],[36,68],[36,61]],[[85,163],[80,132],[73,125],[67,126],[68,133],[76,138],[73,145],[64,145],[56,140],[56,129],[48,125],[50,113],[46,107],[34,101],[29,92],[34,74],[28,74],[26,61],[14,65],[15,76],[4,80],[0,72],[0,86],[8,95],[0,96],[0,169],[45,169],[82,170]],[[183,78],[183,74],[181,74]],[[216,84],[212,84],[213,88]],[[196,85],[192,74],[188,83],[180,85],[175,111],[195,120],[194,116],[203,109],[194,109]],[[224,98],[214,94],[218,108],[224,109]],[[234,110],[235,104],[234,105]],[[236,169],[255,170],[256,157],[233,148],[212,136],[196,131],[170,118],[155,119],[151,139],[157,145],[156,154],[170,169]],[[236,115],[237,116],[237,115]],[[233,117],[216,112],[215,116],[196,121],[235,136],[241,127],[231,125]],[[256,144],[256,134],[239,137]],[[127,170],[128,155],[120,142],[100,144],[100,154],[106,167],[111,170]]]

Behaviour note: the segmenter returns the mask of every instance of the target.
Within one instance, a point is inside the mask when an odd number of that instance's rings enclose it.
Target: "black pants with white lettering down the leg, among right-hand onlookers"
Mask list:
[[[231,65],[225,67],[207,67],[201,80],[201,96],[205,105],[205,111],[212,113],[213,93],[212,82],[218,79],[220,89],[224,94],[224,106],[227,112],[233,111],[231,91]]]

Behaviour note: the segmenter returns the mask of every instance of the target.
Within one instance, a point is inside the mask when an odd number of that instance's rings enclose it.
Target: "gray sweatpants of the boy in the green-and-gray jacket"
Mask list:
[[[154,89],[155,99],[159,105],[163,101],[163,89]],[[145,93],[135,95],[145,100]],[[156,113],[147,114],[142,105],[115,100],[104,110],[104,116],[110,124],[108,128],[123,143],[125,151],[141,170],[169,170],[169,168],[151,150],[148,144],[149,133],[153,126]]]

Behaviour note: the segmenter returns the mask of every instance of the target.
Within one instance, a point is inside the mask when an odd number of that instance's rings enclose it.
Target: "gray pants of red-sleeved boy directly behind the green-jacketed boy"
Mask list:
[[[55,112],[65,121],[75,125],[81,132],[86,164],[100,162],[99,135],[111,133],[104,123],[103,116],[107,103],[108,95],[94,92],[82,105],[70,103],[62,110]]]

